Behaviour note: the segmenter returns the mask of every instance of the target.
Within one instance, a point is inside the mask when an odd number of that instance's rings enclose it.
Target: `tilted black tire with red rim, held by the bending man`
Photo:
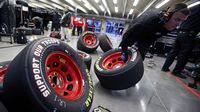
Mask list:
[[[120,48],[109,50],[96,60],[94,71],[104,88],[127,89],[141,80],[144,67],[140,53],[134,48],[129,48],[128,51],[126,62],[121,59]]]

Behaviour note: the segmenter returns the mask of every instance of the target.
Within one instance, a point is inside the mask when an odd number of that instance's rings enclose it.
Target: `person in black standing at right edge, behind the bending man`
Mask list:
[[[184,69],[188,56],[195,46],[195,37],[200,32],[200,5],[192,8],[191,12],[189,18],[180,26],[174,47],[169,52],[161,69],[164,72],[170,71],[169,67],[177,56],[177,63],[172,74],[180,77],[183,77],[181,71]]]

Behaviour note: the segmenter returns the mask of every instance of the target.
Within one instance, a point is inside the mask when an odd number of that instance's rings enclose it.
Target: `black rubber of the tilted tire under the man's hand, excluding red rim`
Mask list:
[[[108,70],[102,66],[102,61],[112,53],[121,52],[121,49],[112,49],[105,52],[97,59],[94,65],[94,71],[101,83],[106,89],[122,90],[134,86],[138,83],[144,73],[143,60],[139,52],[129,48],[131,59],[115,70]],[[134,55],[136,58],[133,59]]]

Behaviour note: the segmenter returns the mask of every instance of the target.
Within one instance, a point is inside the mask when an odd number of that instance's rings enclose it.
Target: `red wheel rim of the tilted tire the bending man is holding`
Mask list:
[[[108,55],[102,62],[102,66],[109,70],[114,70],[124,66],[126,63],[121,58],[122,52],[115,52]],[[128,61],[130,60],[130,56],[128,56]]]

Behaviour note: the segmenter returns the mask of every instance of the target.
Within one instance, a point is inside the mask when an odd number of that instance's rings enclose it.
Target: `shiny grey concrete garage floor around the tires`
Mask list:
[[[108,36],[114,48],[117,47],[121,37]],[[76,49],[77,37],[70,39],[67,44]],[[0,62],[12,60],[24,47],[0,42]],[[163,57],[154,56],[152,67],[147,66],[148,58],[144,61],[144,76],[134,87],[121,91],[102,88],[93,69],[94,62],[102,54],[100,48],[91,54],[94,100],[90,112],[99,105],[112,112],[200,112],[200,93],[185,86],[180,78],[161,72]]]

